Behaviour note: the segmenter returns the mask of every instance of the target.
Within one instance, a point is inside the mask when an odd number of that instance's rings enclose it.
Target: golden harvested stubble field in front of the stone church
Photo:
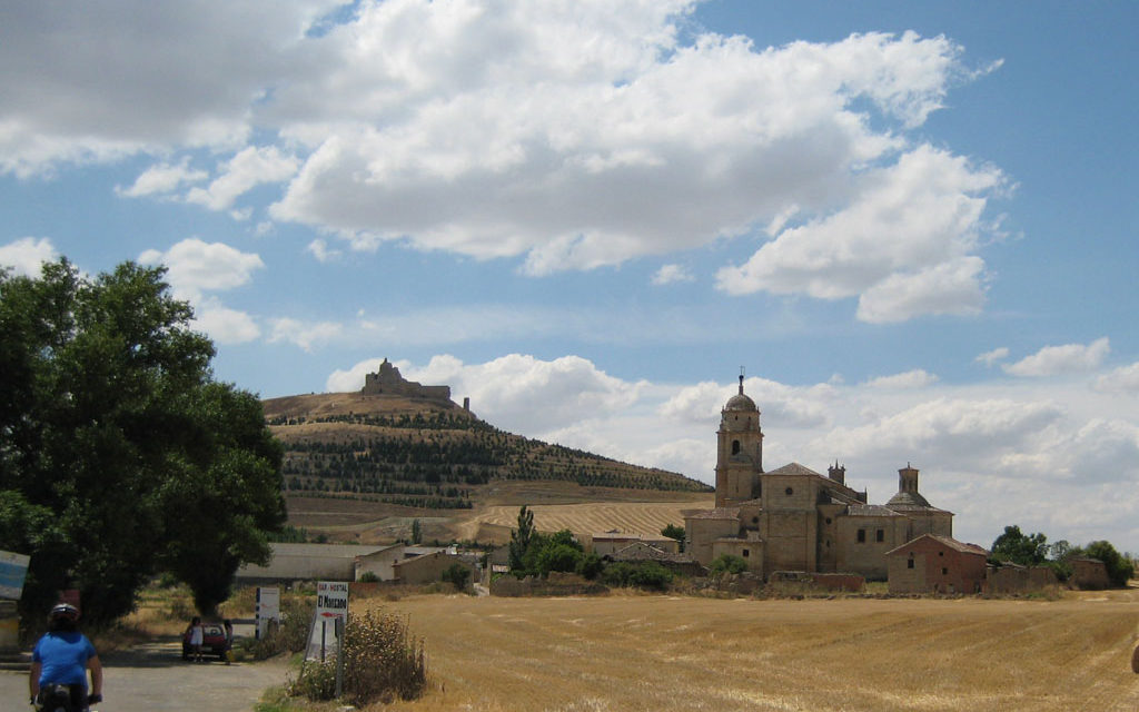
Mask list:
[[[1136,710],[1139,600],[420,596],[433,688],[385,710]],[[377,707],[379,709],[379,707]]]

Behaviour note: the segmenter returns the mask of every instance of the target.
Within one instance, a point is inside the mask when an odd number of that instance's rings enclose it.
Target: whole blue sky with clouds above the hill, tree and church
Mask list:
[[[1133,3],[0,10],[0,263],[166,264],[263,396],[491,423],[1139,551]]]

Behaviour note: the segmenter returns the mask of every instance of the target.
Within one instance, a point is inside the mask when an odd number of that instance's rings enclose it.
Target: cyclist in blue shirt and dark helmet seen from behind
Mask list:
[[[91,671],[88,695],[87,671]],[[79,608],[59,604],[48,617],[48,632],[32,650],[32,671],[27,678],[32,704],[42,703],[49,686],[64,685],[71,690],[72,707],[85,710],[103,701],[103,663],[87,636],[79,632]]]

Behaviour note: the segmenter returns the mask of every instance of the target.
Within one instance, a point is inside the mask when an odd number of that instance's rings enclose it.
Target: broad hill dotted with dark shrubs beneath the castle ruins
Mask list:
[[[540,529],[655,534],[712,491],[677,473],[507,433],[449,400],[326,393],[262,404],[285,444],[290,524],[333,540],[405,538],[418,518],[425,541],[500,541],[521,505],[535,507]],[[580,507],[597,502],[614,507],[606,515]]]

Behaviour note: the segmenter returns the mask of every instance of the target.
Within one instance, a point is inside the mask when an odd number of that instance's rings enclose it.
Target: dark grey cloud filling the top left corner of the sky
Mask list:
[[[305,32],[338,5],[10,5],[0,23],[0,171],[239,149],[271,88],[319,66]]]

